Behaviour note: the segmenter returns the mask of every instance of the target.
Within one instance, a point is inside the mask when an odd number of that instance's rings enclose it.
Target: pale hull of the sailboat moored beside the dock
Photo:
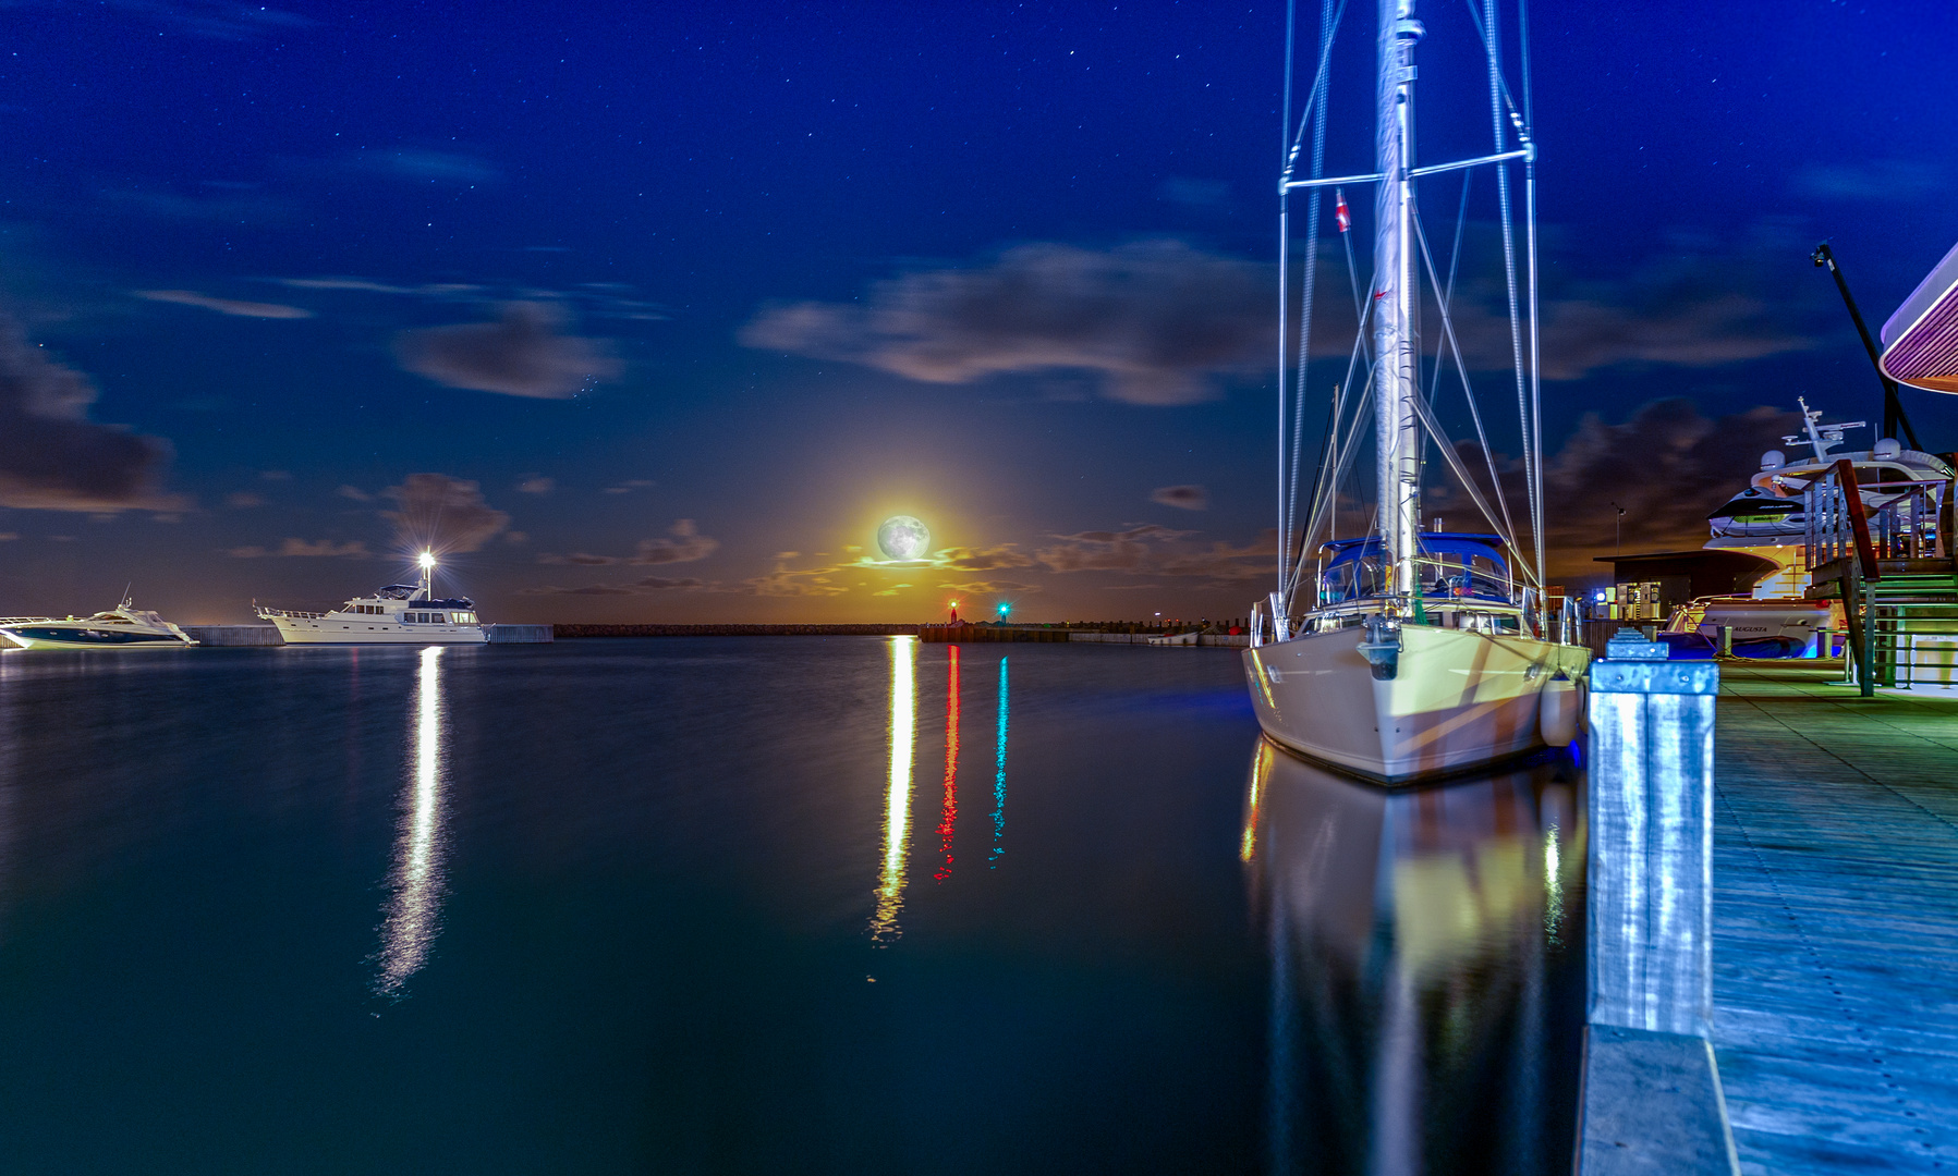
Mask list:
[[[1543,685],[1580,679],[1590,650],[1527,636],[1404,624],[1376,679],[1365,628],[1245,650],[1257,722],[1275,742],[1349,773],[1410,783],[1543,746]]]

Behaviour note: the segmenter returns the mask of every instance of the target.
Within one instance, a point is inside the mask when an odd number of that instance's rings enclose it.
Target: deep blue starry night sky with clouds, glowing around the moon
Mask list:
[[[1467,14],[1420,10],[1425,160],[1488,149]],[[1576,579],[1611,501],[1627,550],[1696,546],[1795,395],[1878,419],[1807,254],[1833,241],[1876,327],[1958,241],[1958,12],[1529,20],[1549,534]],[[1282,22],[10,2],[0,612],[133,583],[243,622],[431,542],[488,620],[1241,616],[1273,577]],[[1333,174],[1371,168],[1371,22],[1355,0]],[[1459,327],[1506,352],[1474,184]],[[1431,237],[1459,192],[1423,182]],[[1324,405],[1353,299],[1320,256]],[[1476,382],[1514,454],[1508,374]],[[1958,446],[1958,399],[1905,403]],[[1465,429],[1459,389],[1437,411]],[[932,560],[863,565],[897,513]]]

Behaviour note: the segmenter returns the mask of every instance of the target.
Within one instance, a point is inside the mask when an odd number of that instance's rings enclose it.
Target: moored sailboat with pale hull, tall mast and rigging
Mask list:
[[[1343,4],[1339,6],[1343,8]],[[1480,12],[1476,12],[1480,8]],[[1566,744],[1576,718],[1576,683],[1590,665],[1590,652],[1576,644],[1570,601],[1547,599],[1543,585],[1543,475],[1541,427],[1535,419],[1537,389],[1537,264],[1535,264],[1535,145],[1529,139],[1529,90],[1523,106],[1510,100],[1496,39],[1496,0],[1470,4],[1488,57],[1488,96],[1494,153],[1418,166],[1414,153],[1414,49],[1425,35],[1414,18],[1416,0],[1378,2],[1378,68],[1375,84],[1375,172],[1324,178],[1326,98],[1335,4],[1324,0],[1318,72],[1304,104],[1298,131],[1284,155],[1279,180],[1281,276],[1279,276],[1279,591],[1253,607],[1251,648],[1243,654],[1251,704],[1265,734],[1292,751],[1382,783],[1406,783],[1472,769],[1545,744]],[[1290,35],[1290,27],[1286,29]],[[1525,47],[1527,59],[1527,47]],[[1527,72],[1525,72],[1527,76]],[[1300,153],[1308,123],[1312,147],[1300,178]],[[1290,133],[1290,45],[1286,47],[1286,131]],[[1506,164],[1525,166],[1523,237],[1527,294],[1519,297],[1512,198]],[[1443,360],[1453,354],[1468,407],[1474,397],[1461,344],[1455,339],[1447,297],[1416,205],[1422,176],[1468,168],[1496,168],[1502,205],[1504,260],[1510,290],[1512,350],[1523,432],[1523,475],[1529,493],[1533,560],[1521,552],[1508,509],[1492,509],[1463,468],[1441,430],[1423,384],[1418,335],[1422,309],[1420,270],[1429,278],[1429,297],[1439,307],[1441,340],[1433,356],[1435,389]],[[1467,184],[1467,178],[1463,180]],[[1359,299],[1361,331],[1349,372],[1367,362],[1371,376],[1359,395],[1335,395],[1329,407],[1328,444],[1322,452],[1302,550],[1288,550],[1294,534],[1294,493],[1304,468],[1298,442],[1304,413],[1304,368],[1310,356],[1314,254],[1304,266],[1304,299],[1298,315],[1296,393],[1286,387],[1292,364],[1288,297],[1288,194],[1310,194],[1310,221],[1318,221],[1320,194],[1328,186],[1375,186],[1375,241],[1371,297]],[[1337,190],[1335,190],[1337,192]],[[1463,198],[1467,213],[1467,190]],[[1345,200],[1337,213],[1345,227]],[[1457,241],[1461,235],[1457,233]],[[1351,254],[1349,254],[1351,256]],[[1351,262],[1349,262],[1351,264]],[[1357,286],[1357,284],[1355,284]],[[1355,295],[1357,295],[1355,288]],[[1521,311],[1519,311],[1521,303]],[[1367,327],[1371,321],[1371,348]],[[1527,342],[1527,352],[1525,352]],[[1343,387],[1353,387],[1347,380]],[[1328,522],[1337,485],[1351,468],[1367,401],[1373,405],[1376,519],[1369,534],[1329,538],[1312,546]],[[1351,427],[1343,427],[1351,415]],[[1476,430],[1484,454],[1490,452]],[[1341,438],[1345,442],[1341,444]],[[1490,532],[1423,528],[1423,458],[1433,450],[1447,462],[1463,491],[1476,503]],[[1490,481],[1502,503],[1502,485]],[[1296,614],[1294,614],[1296,612]]]

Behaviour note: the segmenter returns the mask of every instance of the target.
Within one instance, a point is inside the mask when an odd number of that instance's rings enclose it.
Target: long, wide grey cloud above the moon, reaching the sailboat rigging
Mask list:
[[[862,307],[766,307],[740,340],[924,384],[1096,372],[1108,399],[1189,405],[1218,395],[1216,374],[1269,366],[1273,280],[1271,266],[1181,241],[1022,245],[985,266],[877,282]]]

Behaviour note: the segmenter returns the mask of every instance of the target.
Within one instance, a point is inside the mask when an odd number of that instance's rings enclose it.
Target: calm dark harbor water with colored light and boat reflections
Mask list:
[[[1237,657],[0,657],[12,1172],[1557,1172],[1582,783]]]

